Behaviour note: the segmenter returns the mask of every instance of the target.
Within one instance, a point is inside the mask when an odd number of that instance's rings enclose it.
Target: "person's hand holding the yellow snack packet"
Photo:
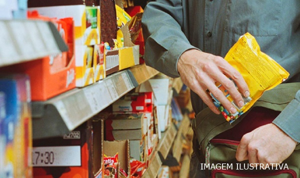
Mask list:
[[[222,91],[215,86],[216,81],[220,82],[228,90],[234,103],[240,107],[244,104],[240,93],[245,97],[249,96],[248,86],[241,74],[220,56],[190,49],[183,52],[180,56],[177,69],[182,82],[197,93],[203,102],[215,113],[220,112],[214,106],[206,89],[208,89],[230,113],[236,112],[236,108],[233,104],[230,103]],[[228,77],[233,79],[240,93]]]

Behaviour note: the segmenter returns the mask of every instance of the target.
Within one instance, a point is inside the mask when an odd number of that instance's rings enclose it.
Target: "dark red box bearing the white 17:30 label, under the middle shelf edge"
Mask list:
[[[34,177],[102,177],[101,124],[89,119],[61,137],[34,140]]]

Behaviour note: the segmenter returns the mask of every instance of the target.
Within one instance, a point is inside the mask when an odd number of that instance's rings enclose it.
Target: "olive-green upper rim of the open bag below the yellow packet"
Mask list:
[[[300,82],[281,83],[271,90],[265,91],[254,103],[255,106],[262,106],[269,109],[282,111],[285,106],[294,98],[295,93],[300,89]],[[208,107],[203,109],[193,119],[192,128],[197,137],[200,148],[205,148],[208,141],[219,133],[232,128],[251,110],[251,108],[229,124],[221,114],[215,114]],[[204,151],[202,149],[202,151]]]

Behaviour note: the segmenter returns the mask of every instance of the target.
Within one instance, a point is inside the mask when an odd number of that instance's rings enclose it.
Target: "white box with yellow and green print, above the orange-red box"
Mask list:
[[[99,6],[58,5],[47,7],[30,7],[41,15],[74,20],[74,35],[76,45],[94,45],[100,43],[100,12]]]

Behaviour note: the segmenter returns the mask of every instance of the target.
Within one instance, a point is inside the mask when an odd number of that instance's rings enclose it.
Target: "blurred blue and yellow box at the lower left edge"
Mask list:
[[[32,127],[29,78],[25,74],[1,75],[0,91],[5,93],[6,98],[6,116],[0,119],[0,153],[4,153],[0,155],[1,167],[4,174],[9,177],[31,177]],[[3,172],[0,172],[1,174]]]

